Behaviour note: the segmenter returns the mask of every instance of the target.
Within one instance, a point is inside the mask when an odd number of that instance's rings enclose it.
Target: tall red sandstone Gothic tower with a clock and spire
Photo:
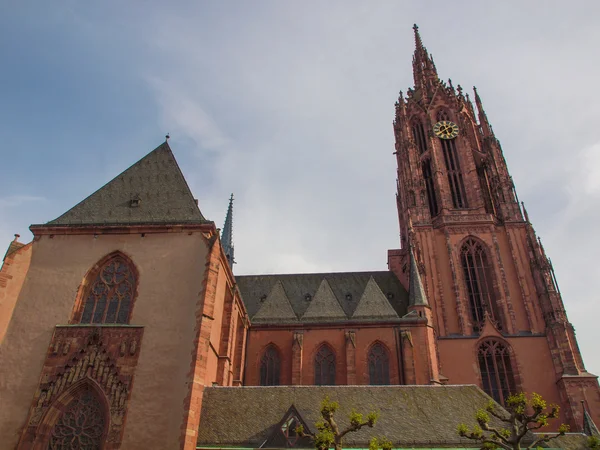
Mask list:
[[[394,134],[401,249],[388,265],[408,286],[409,248],[433,315],[440,373],[502,403],[538,392],[573,431],[581,402],[600,420],[550,259],[521,209],[500,142],[474,88],[442,81],[414,26],[414,87],[400,93]]]

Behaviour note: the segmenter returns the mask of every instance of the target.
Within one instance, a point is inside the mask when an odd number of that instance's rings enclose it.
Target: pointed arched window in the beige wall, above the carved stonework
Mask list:
[[[120,254],[93,272],[83,297],[81,323],[129,323],[136,276],[131,263]]]

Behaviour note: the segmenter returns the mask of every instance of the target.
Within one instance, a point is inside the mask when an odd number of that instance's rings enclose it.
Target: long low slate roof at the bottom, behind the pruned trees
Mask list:
[[[373,428],[346,435],[345,446],[362,448],[372,436],[385,436],[394,447],[476,447],[456,434],[456,426],[474,425],[475,412],[490,399],[474,385],[207,387],[198,446],[258,448],[277,432],[292,405],[314,431],[325,396],[339,402],[335,418],[341,428],[353,408],[380,412]]]

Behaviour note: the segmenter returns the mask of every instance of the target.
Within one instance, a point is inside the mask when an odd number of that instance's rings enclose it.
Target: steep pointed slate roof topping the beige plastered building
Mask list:
[[[106,183],[52,226],[206,223],[167,142]]]

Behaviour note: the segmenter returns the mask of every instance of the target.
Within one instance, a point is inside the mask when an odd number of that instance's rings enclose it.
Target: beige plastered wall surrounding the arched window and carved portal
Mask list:
[[[122,448],[178,446],[181,415],[165,411],[180,411],[188,392],[207,255],[199,232],[34,240],[29,276],[0,347],[0,442],[7,448],[15,446],[25,425],[54,326],[69,322],[85,274],[115,250],[128,255],[139,272],[131,324],[145,327]]]

